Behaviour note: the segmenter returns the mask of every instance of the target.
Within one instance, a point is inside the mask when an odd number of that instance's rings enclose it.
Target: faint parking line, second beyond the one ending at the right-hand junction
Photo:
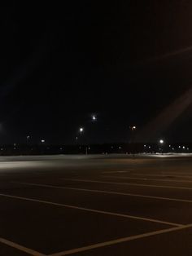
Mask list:
[[[175,186],[161,186],[161,185],[151,185],[151,184],[140,184],[140,183],[121,183],[121,182],[113,182],[113,181],[103,181],[97,179],[67,179],[63,178],[63,180],[71,180],[71,181],[80,181],[85,183],[107,183],[107,184],[115,184],[115,185],[129,185],[129,186],[137,186],[137,187],[151,187],[151,188],[174,188],[174,189],[186,189],[192,190],[192,188],[186,187],[175,187]]]

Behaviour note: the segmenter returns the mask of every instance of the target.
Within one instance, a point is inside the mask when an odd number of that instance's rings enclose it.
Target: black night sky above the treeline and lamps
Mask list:
[[[147,127],[143,141],[192,142],[191,1],[25,2],[0,10],[0,143],[27,135],[75,143],[80,126],[84,142],[127,142],[133,124],[137,134]],[[158,127],[169,108],[164,122],[172,112],[177,118],[151,138],[151,121]]]

